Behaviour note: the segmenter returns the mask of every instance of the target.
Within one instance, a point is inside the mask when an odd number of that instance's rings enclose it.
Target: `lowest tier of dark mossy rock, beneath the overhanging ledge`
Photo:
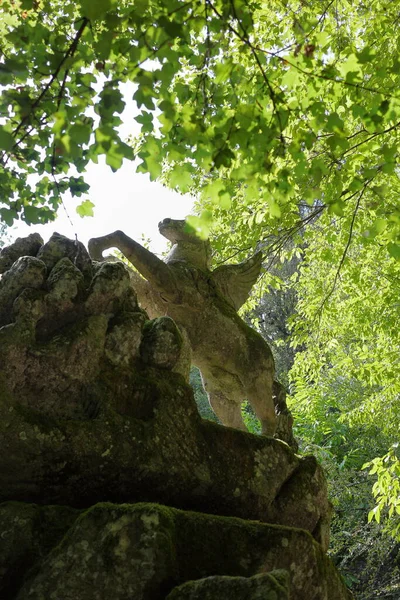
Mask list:
[[[65,507],[5,503],[0,526],[0,568],[12,565],[14,573],[3,589],[16,600],[350,597],[319,544],[301,530],[104,503],[77,518]]]

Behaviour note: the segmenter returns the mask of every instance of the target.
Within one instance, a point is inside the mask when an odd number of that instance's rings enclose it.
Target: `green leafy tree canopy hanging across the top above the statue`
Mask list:
[[[209,209],[229,215],[235,201],[253,239],[294,226],[301,204],[341,217],[357,203],[370,213],[368,235],[384,232],[400,256],[389,0],[10,0],[2,9],[6,222],[52,219],[66,189],[88,191],[89,161],[104,154],[116,170],[136,155],[152,179],[196,191],[203,233]],[[117,131],[126,81],[137,86],[135,152]]]

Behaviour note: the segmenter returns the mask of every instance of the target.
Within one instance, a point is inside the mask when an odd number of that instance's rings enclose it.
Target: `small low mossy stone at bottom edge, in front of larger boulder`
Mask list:
[[[188,581],[166,600],[289,600],[290,574],[271,571],[253,577],[214,575]]]

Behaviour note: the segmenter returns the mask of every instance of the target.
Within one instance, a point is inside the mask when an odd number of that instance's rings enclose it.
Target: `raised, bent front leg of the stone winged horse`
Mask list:
[[[88,247],[93,260],[102,260],[104,250],[117,248],[155,289],[168,294],[176,293],[175,277],[168,265],[123,231],[92,238]]]

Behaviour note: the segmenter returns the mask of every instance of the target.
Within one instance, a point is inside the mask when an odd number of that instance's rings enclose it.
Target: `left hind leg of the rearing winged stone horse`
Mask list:
[[[238,385],[236,378],[233,375],[229,377],[227,373],[224,373],[223,379],[226,388],[220,384],[220,381],[217,381],[213,377],[204,376],[203,372],[201,372],[201,378],[203,380],[204,389],[208,395],[210,406],[221,423],[227,427],[234,427],[236,429],[247,431],[247,427],[242,418],[242,396],[240,395],[238,397],[238,394],[232,390],[232,387],[237,387]],[[229,381],[229,379],[231,379],[231,381]],[[229,383],[231,385],[229,385]],[[239,386],[241,387],[240,382]]]

